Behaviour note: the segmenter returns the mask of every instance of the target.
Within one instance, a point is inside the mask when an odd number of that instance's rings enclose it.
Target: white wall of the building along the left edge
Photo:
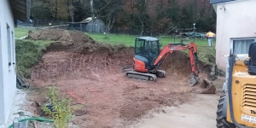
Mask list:
[[[16,89],[15,64],[13,64],[15,63],[15,25],[9,0],[0,0],[0,27],[0,125],[3,125],[8,119]],[[11,61],[9,61],[9,53]],[[9,62],[11,62],[10,66]]]

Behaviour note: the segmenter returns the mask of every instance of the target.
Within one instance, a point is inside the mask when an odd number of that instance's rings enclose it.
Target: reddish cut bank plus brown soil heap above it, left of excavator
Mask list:
[[[50,29],[29,32],[28,38],[55,41],[47,47],[47,51],[52,52],[44,55],[44,62],[33,67],[33,79],[51,79],[62,74],[89,70],[102,70],[102,73],[107,73],[107,70],[116,72],[132,64],[133,48],[97,43],[84,32]]]

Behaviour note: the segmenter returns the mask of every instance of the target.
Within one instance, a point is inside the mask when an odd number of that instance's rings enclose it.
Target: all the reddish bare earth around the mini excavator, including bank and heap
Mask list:
[[[54,38],[55,32],[62,34]],[[86,105],[88,112],[72,120],[79,127],[128,127],[150,110],[191,101],[198,87],[187,85],[191,68],[189,57],[181,52],[172,54],[162,65],[166,78],[149,82],[128,79],[122,71],[132,65],[133,48],[99,44],[82,32],[50,30],[30,32],[29,36],[34,40],[42,37],[57,43],[51,44],[42,61],[32,67],[29,99],[43,103],[46,89],[55,85],[61,96]],[[201,78],[207,77],[208,71],[201,65]],[[36,107],[31,108],[39,113]]]

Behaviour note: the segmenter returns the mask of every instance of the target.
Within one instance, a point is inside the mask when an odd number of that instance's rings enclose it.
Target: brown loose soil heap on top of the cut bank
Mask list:
[[[84,32],[71,32],[62,29],[49,29],[37,32],[29,32],[27,38],[32,40],[55,41],[54,44],[50,44],[50,46],[47,48],[48,51],[60,51],[66,49],[68,51],[86,54],[92,52],[104,52],[113,54],[113,52],[119,50],[119,48],[125,47],[124,45],[113,47],[110,44],[97,43],[92,38],[86,36]]]

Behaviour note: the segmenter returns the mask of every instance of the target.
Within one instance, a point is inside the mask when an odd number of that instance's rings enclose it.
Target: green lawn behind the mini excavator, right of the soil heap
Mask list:
[[[107,44],[125,44],[125,46],[134,46],[135,38],[137,36],[133,35],[123,35],[123,34],[88,34],[91,38],[96,40],[97,42],[107,43]],[[160,39],[160,43],[162,44],[162,47],[166,46],[166,44],[172,44],[172,43],[180,43],[182,41],[182,38],[174,38],[173,37],[156,37]],[[183,40],[183,43],[189,44],[193,42],[194,39],[189,40]],[[214,64],[215,63],[215,42],[212,46],[212,49],[208,47],[207,39],[195,39],[195,44],[198,49],[198,56],[199,59],[207,64]],[[187,52],[187,51],[185,51]],[[188,53],[188,52],[187,52]]]

